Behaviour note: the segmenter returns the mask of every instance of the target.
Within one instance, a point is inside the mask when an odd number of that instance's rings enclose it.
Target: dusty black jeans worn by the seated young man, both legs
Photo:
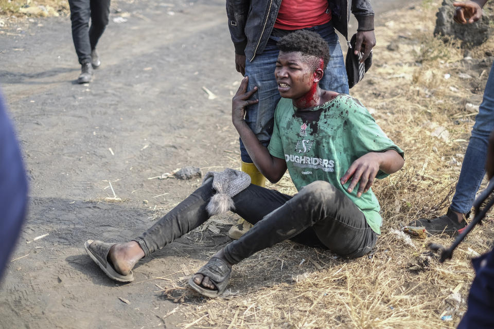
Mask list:
[[[214,194],[210,179],[134,241],[146,256],[163,248],[209,218],[206,205]],[[233,211],[254,226],[225,246],[232,264],[287,239],[351,258],[368,253],[377,241],[360,209],[325,181],[312,182],[294,196],[251,184],[233,201]]]

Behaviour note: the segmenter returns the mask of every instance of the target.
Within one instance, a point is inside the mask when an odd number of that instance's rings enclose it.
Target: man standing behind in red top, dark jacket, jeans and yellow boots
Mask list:
[[[274,79],[277,41],[296,30],[318,33],[327,42],[331,59],[319,85],[322,89],[348,94],[348,78],[336,28],[348,40],[350,11],[358,21],[355,53],[362,51],[361,62],[376,45],[374,11],[369,0],[226,0],[228,28],[235,46],[235,66],[242,76],[249,76],[248,90],[258,87],[259,102],[247,108],[245,122],[257,139],[267,146],[273,133],[274,109],[280,99]],[[254,165],[240,140],[243,172],[252,184],[264,186],[266,178]],[[250,228],[240,219],[228,235],[238,239]]]

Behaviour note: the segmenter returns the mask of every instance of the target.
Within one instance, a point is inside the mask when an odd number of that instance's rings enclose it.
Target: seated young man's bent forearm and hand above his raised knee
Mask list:
[[[403,167],[403,163],[403,158],[395,150],[370,152],[355,160],[343,175],[340,182],[341,185],[345,185],[348,179],[352,177],[350,185],[346,189],[349,193],[360,182],[357,191],[357,197],[360,197],[362,193],[367,192],[371,188],[379,170],[382,170],[386,174],[392,174],[400,170]]]

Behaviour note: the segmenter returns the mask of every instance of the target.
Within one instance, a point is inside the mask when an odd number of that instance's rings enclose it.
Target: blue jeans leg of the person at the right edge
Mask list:
[[[451,202],[451,210],[464,214],[471,210],[475,193],[479,190],[485,175],[487,145],[492,131],[494,131],[494,64],[490,69],[479,114],[475,117],[472,136],[468,142],[462,171]]]

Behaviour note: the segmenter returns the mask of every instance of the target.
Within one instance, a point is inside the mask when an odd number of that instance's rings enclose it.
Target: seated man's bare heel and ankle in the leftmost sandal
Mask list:
[[[135,241],[117,243],[108,253],[108,260],[113,268],[123,276],[130,273],[134,265],[144,257],[144,251]]]

